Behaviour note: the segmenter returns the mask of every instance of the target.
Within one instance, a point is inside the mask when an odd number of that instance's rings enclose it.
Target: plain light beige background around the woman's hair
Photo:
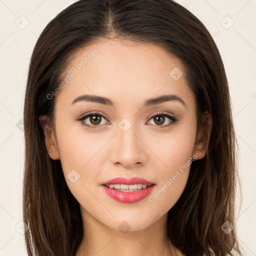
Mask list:
[[[30,55],[48,21],[72,2],[0,0],[0,256],[27,255],[19,230],[24,163],[21,119]],[[205,24],[225,65],[239,142],[242,202],[236,213],[237,231],[244,255],[256,255],[256,0],[177,2]],[[239,203],[239,191],[236,195]]]

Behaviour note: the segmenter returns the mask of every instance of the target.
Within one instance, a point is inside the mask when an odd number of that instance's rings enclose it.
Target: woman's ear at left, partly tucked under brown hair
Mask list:
[[[38,120],[44,132],[45,145],[48,150],[49,157],[53,160],[59,159],[58,147],[49,117],[47,115],[40,115]]]

